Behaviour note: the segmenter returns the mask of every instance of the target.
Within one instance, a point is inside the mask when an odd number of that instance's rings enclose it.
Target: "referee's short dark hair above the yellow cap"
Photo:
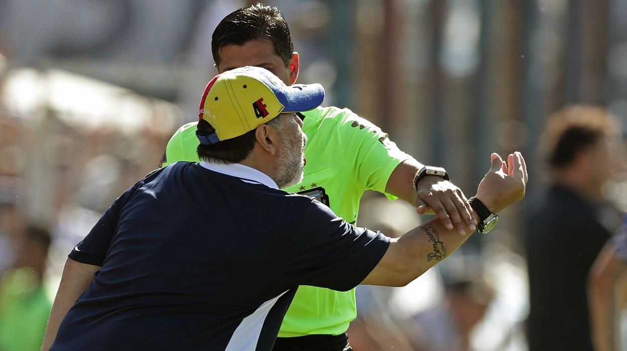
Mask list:
[[[220,65],[219,52],[224,46],[257,39],[268,39],[285,66],[290,65],[294,52],[290,28],[278,8],[260,3],[237,9],[220,21],[211,37],[213,61]]]

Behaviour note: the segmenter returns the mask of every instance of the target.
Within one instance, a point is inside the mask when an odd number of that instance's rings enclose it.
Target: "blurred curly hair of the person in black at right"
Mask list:
[[[614,118],[601,107],[571,105],[549,118],[542,140],[545,162],[554,170],[572,164],[577,154],[613,132]]]

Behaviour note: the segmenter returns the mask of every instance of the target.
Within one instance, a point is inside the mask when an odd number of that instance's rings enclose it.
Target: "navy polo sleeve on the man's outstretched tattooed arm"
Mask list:
[[[350,290],[369,275],[387,246],[387,236],[356,228],[312,200],[287,244],[287,280],[294,285]]]

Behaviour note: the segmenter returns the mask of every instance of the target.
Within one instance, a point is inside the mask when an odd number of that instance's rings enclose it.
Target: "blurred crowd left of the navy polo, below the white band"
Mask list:
[[[68,252],[170,136],[42,114],[33,124],[0,107],[0,350],[39,350]]]

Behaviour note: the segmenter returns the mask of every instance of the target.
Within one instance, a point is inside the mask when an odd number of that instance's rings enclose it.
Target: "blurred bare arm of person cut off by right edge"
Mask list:
[[[627,214],[623,215],[621,229],[601,250],[589,278],[590,323],[594,349],[619,350],[617,312],[623,310],[627,297],[624,289],[627,286],[620,285],[627,278]]]

